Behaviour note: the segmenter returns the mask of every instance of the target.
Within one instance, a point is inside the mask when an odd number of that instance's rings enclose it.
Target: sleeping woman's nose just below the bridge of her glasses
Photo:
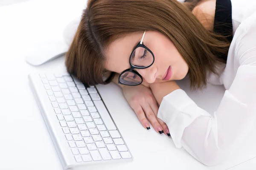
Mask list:
[[[155,74],[157,73],[157,68],[152,66],[145,69],[136,69],[136,71],[143,77],[143,81],[146,81],[148,83],[155,82]]]

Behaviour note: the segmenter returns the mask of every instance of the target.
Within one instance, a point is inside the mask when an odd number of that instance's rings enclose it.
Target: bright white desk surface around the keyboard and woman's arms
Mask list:
[[[41,40],[62,40],[64,27],[81,14],[86,0],[0,1],[0,169],[63,170],[44,119],[30,90],[27,74],[63,71],[64,58],[33,67],[23,59],[25,50]],[[186,81],[179,82],[188,89]],[[186,150],[176,149],[172,140],[153,129],[145,130],[114,84],[98,85],[99,91],[124,137],[134,161],[87,167],[87,170],[253,170],[256,169],[256,128],[225,163],[206,167]],[[224,88],[209,86],[188,94],[213,113]],[[207,102],[206,102],[207,101]],[[254,159],[253,159],[254,158]],[[244,163],[243,163],[244,162]],[[237,166],[236,166],[237,165]]]

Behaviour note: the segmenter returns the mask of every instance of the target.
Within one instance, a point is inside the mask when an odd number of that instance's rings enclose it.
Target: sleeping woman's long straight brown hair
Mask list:
[[[207,84],[207,71],[215,73],[218,54],[230,43],[208,31],[192,14],[200,0],[89,0],[66,57],[67,71],[88,85],[104,81],[105,49],[114,40],[137,31],[159,31],[169,37],[189,65],[191,88]]]

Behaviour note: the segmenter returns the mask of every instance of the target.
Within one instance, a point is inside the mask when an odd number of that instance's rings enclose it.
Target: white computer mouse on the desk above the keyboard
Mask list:
[[[68,45],[64,41],[41,41],[27,48],[25,60],[30,65],[42,65],[52,59],[65,55]]]

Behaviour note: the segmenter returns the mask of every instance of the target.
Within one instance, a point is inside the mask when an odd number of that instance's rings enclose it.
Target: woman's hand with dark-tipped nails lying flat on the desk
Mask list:
[[[143,127],[149,129],[149,121],[157,133],[165,133],[170,136],[167,125],[157,118],[159,107],[150,88],[144,85],[125,85],[122,86],[122,90],[125,99],[137,114]]]

